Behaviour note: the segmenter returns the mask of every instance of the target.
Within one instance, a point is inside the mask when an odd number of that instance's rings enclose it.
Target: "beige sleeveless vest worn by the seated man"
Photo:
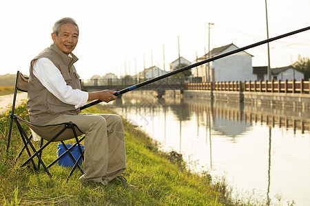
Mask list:
[[[30,76],[28,83],[28,102],[30,122],[32,124],[43,125],[50,122],[60,114],[77,115],[79,109],[74,105],[65,104],[56,98],[32,73],[32,66],[35,60],[39,58],[48,58],[61,71],[67,85],[72,89],[81,89],[79,75],[76,73],[73,63],[78,60],[76,56],[71,57],[63,54],[61,50],[53,43],[49,48],[44,49],[30,64]],[[54,82],[57,84],[57,82]]]

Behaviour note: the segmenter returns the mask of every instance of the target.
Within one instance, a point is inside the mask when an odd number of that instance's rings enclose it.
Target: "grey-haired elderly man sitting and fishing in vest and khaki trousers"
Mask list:
[[[74,68],[78,60],[72,51],[79,40],[79,26],[63,18],[53,26],[52,45],[30,64],[28,111],[30,122],[38,125],[73,122],[85,133],[85,174],[81,181],[106,185],[116,181],[130,185],[121,176],[126,168],[123,122],[118,115],[80,114],[89,100],[110,102],[115,91],[81,91]]]

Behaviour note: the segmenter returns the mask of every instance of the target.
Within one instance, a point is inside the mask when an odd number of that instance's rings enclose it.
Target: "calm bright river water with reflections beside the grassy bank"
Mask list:
[[[310,205],[308,111],[186,98],[123,95],[110,106],[194,172],[225,181],[235,199]]]

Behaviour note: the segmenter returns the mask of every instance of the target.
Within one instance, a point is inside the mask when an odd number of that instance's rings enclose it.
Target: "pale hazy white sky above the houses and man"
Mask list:
[[[269,37],[310,26],[309,0],[267,0]],[[62,17],[80,27],[74,50],[81,78],[108,72],[134,73],[156,65],[165,69],[180,55],[194,62],[196,53],[234,43],[237,47],[267,38],[265,0],[42,1],[0,3],[0,74],[29,74],[30,60],[52,43],[52,25]],[[271,67],[284,67],[298,54],[310,57],[310,31],[270,43]],[[267,45],[247,52],[253,66],[267,65]],[[152,54],[152,55],[151,55]],[[153,56],[153,58],[152,58]],[[135,67],[136,60],[136,67]]]

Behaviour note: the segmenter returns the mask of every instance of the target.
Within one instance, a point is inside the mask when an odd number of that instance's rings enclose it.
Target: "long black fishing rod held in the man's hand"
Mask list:
[[[239,48],[239,49],[235,49],[235,50],[233,50],[233,51],[231,51],[231,52],[227,52],[227,53],[224,53],[224,54],[220,54],[220,55],[218,55],[218,56],[214,56],[214,57],[208,58],[208,59],[206,59],[206,60],[202,60],[202,61],[200,61],[200,62],[196,62],[196,63],[194,63],[194,64],[192,64],[192,65],[188,65],[188,66],[186,66],[186,67],[182,67],[182,68],[180,68],[180,69],[176,69],[176,70],[174,70],[174,71],[170,71],[170,72],[165,73],[165,74],[163,74],[163,75],[161,75],[161,76],[157,76],[156,78],[152,78],[152,79],[150,79],[150,80],[146,80],[146,81],[144,81],[144,82],[141,82],[141,83],[138,83],[138,84],[134,84],[134,85],[131,86],[131,87],[127,87],[127,88],[125,88],[125,89],[121,89],[120,91],[117,91],[116,93],[114,93],[114,95],[118,96],[118,95],[121,95],[121,94],[123,94],[123,93],[127,93],[128,91],[132,91],[132,90],[134,90],[134,89],[138,89],[139,87],[143,87],[143,86],[145,86],[145,85],[147,85],[147,84],[150,84],[150,83],[152,83],[152,82],[156,82],[156,81],[161,80],[161,79],[163,79],[163,78],[167,78],[167,77],[172,76],[172,75],[174,75],[174,74],[176,74],[176,73],[180,73],[180,72],[182,72],[182,71],[185,71],[185,70],[188,70],[188,69],[192,69],[192,68],[194,68],[194,67],[198,67],[198,66],[203,65],[203,64],[205,64],[205,63],[207,63],[207,62],[211,62],[211,61],[214,61],[214,60],[218,60],[219,58],[223,58],[223,57],[226,57],[226,56],[230,56],[231,54],[236,54],[236,53],[238,53],[238,52],[242,52],[242,51],[244,51],[244,50],[251,49],[251,48],[253,48],[253,47],[257,47],[257,46],[259,46],[259,45],[263,45],[263,44],[269,43],[269,42],[271,42],[271,41],[276,41],[276,40],[278,40],[278,39],[280,39],[280,38],[285,38],[285,37],[287,37],[287,36],[291,36],[291,35],[293,35],[293,34],[298,34],[298,33],[300,33],[300,32],[304,32],[304,31],[307,31],[307,30],[310,30],[310,27],[304,27],[304,28],[302,28],[302,29],[300,29],[300,30],[296,30],[296,31],[293,31],[293,32],[289,32],[289,33],[287,33],[287,34],[282,34],[282,35],[280,35],[280,36],[276,36],[276,37],[273,37],[273,38],[267,38],[267,39],[264,40],[264,41],[260,41],[260,42],[258,42],[258,43],[254,43],[254,44],[251,44],[251,45],[247,45],[247,46],[245,46],[245,47],[242,47],[242,48]],[[88,103],[88,104],[85,104],[84,106],[81,106],[80,109],[82,110],[82,109],[84,109],[84,108],[88,108],[88,107],[90,107],[90,106],[94,106],[95,104],[99,104],[100,102],[102,102],[102,101],[101,101],[101,100],[95,100],[95,101],[93,101],[93,102],[90,102],[90,103]]]

